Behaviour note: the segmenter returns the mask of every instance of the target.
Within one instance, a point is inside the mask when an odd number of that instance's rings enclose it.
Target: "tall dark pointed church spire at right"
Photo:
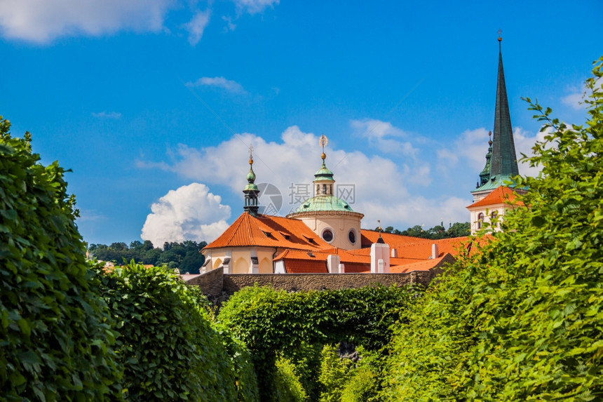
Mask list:
[[[496,84],[496,111],[494,113],[494,138],[492,138],[492,161],[490,178],[503,178],[518,175],[513,126],[509,114],[505,72],[503,71],[503,53],[499,36],[499,79]]]

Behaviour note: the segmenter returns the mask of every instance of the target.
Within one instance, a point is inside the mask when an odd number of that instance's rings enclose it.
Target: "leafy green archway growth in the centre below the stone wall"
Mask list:
[[[309,364],[311,349],[306,348],[342,340],[368,349],[384,347],[391,338],[391,326],[414,293],[412,288],[396,286],[297,293],[255,286],[233,295],[217,320],[249,347],[263,401],[273,400],[279,353],[296,365],[305,359],[297,375],[306,384],[306,393],[315,396],[307,384],[318,382],[318,361]]]

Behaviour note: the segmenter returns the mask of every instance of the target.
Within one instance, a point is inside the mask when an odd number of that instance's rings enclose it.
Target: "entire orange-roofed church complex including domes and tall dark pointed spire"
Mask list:
[[[484,222],[503,217],[506,201],[523,191],[511,177],[518,174],[499,37],[499,72],[496,88],[494,136],[489,140],[486,166],[471,192],[471,232]],[[361,229],[363,214],[335,196],[334,173],[327,168],[320,137],[322,164],[314,174],[313,196],[286,217],[259,213],[250,152],[248,184],[243,189],[243,213],[201,253],[202,272],[224,269],[224,274],[344,274],[426,271],[454,262],[466,237],[421,239]],[[515,192],[514,192],[515,191]]]

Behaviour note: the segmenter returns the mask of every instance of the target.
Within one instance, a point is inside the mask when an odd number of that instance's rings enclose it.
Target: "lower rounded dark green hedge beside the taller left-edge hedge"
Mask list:
[[[134,262],[104,274],[129,400],[236,401],[230,359],[198,300],[165,267]]]

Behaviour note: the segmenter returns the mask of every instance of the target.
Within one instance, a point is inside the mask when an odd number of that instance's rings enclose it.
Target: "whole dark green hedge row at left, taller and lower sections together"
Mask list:
[[[102,272],[65,170],[0,116],[0,401],[258,400],[250,353],[169,269]]]

